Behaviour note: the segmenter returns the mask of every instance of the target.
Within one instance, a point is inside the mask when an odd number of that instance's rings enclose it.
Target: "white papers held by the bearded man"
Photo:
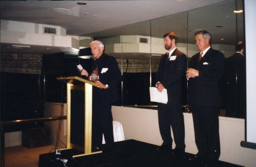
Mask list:
[[[156,87],[149,87],[150,101],[167,104],[167,90],[163,89],[162,92],[158,92]]]

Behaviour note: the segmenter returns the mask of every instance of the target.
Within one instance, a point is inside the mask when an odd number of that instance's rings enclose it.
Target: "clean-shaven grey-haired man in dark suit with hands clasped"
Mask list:
[[[224,55],[211,48],[210,40],[211,35],[205,30],[195,33],[200,52],[191,57],[186,74],[198,148],[196,156],[189,160],[202,162],[206,166],[216,162],[221,154],[218,114],[222,103],[218,80],[224,71]]]

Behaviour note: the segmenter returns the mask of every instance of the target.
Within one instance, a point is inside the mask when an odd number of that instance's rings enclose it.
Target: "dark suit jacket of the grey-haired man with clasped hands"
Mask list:
[[[191,57],[189,68],[199,70],[199,76],[189,78],[189,104],[220,106],[218,80],[224,70],[224,55],[210,48],[198,62],[200,52]]]

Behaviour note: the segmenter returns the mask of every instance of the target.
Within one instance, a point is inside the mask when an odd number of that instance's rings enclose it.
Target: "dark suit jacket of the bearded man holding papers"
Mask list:
[[[162,55],[156,72],[156,82],[160,82],[167,89],[168,101],[181,103],[181,78],[187,69],[187,56],[178,49],[171,56],[176,56],[176,59],[168,60],[165,64],[167,53]]]

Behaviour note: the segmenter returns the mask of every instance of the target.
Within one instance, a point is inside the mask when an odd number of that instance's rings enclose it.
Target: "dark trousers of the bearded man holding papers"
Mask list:
[[[171,127],[177,148],[185,151],[185,127],[181,104],[158,103],[159,130],[165,145],[172,146]]]

